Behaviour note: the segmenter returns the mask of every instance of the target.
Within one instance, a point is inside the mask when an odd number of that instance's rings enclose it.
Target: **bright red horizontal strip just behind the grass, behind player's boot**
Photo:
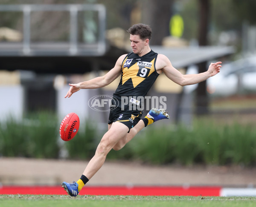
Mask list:
[[[123,196],[220,196],[221,187],[84,187],[79,195]],[[67,195],[59,186],[2,186],[0,194]]]

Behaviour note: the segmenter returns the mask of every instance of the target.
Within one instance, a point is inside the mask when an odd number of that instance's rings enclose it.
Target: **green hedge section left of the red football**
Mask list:
[[[58,158],[57,118],[52,113],[34,113],[17,121],[0,122],[0,154],[35,158]]]

